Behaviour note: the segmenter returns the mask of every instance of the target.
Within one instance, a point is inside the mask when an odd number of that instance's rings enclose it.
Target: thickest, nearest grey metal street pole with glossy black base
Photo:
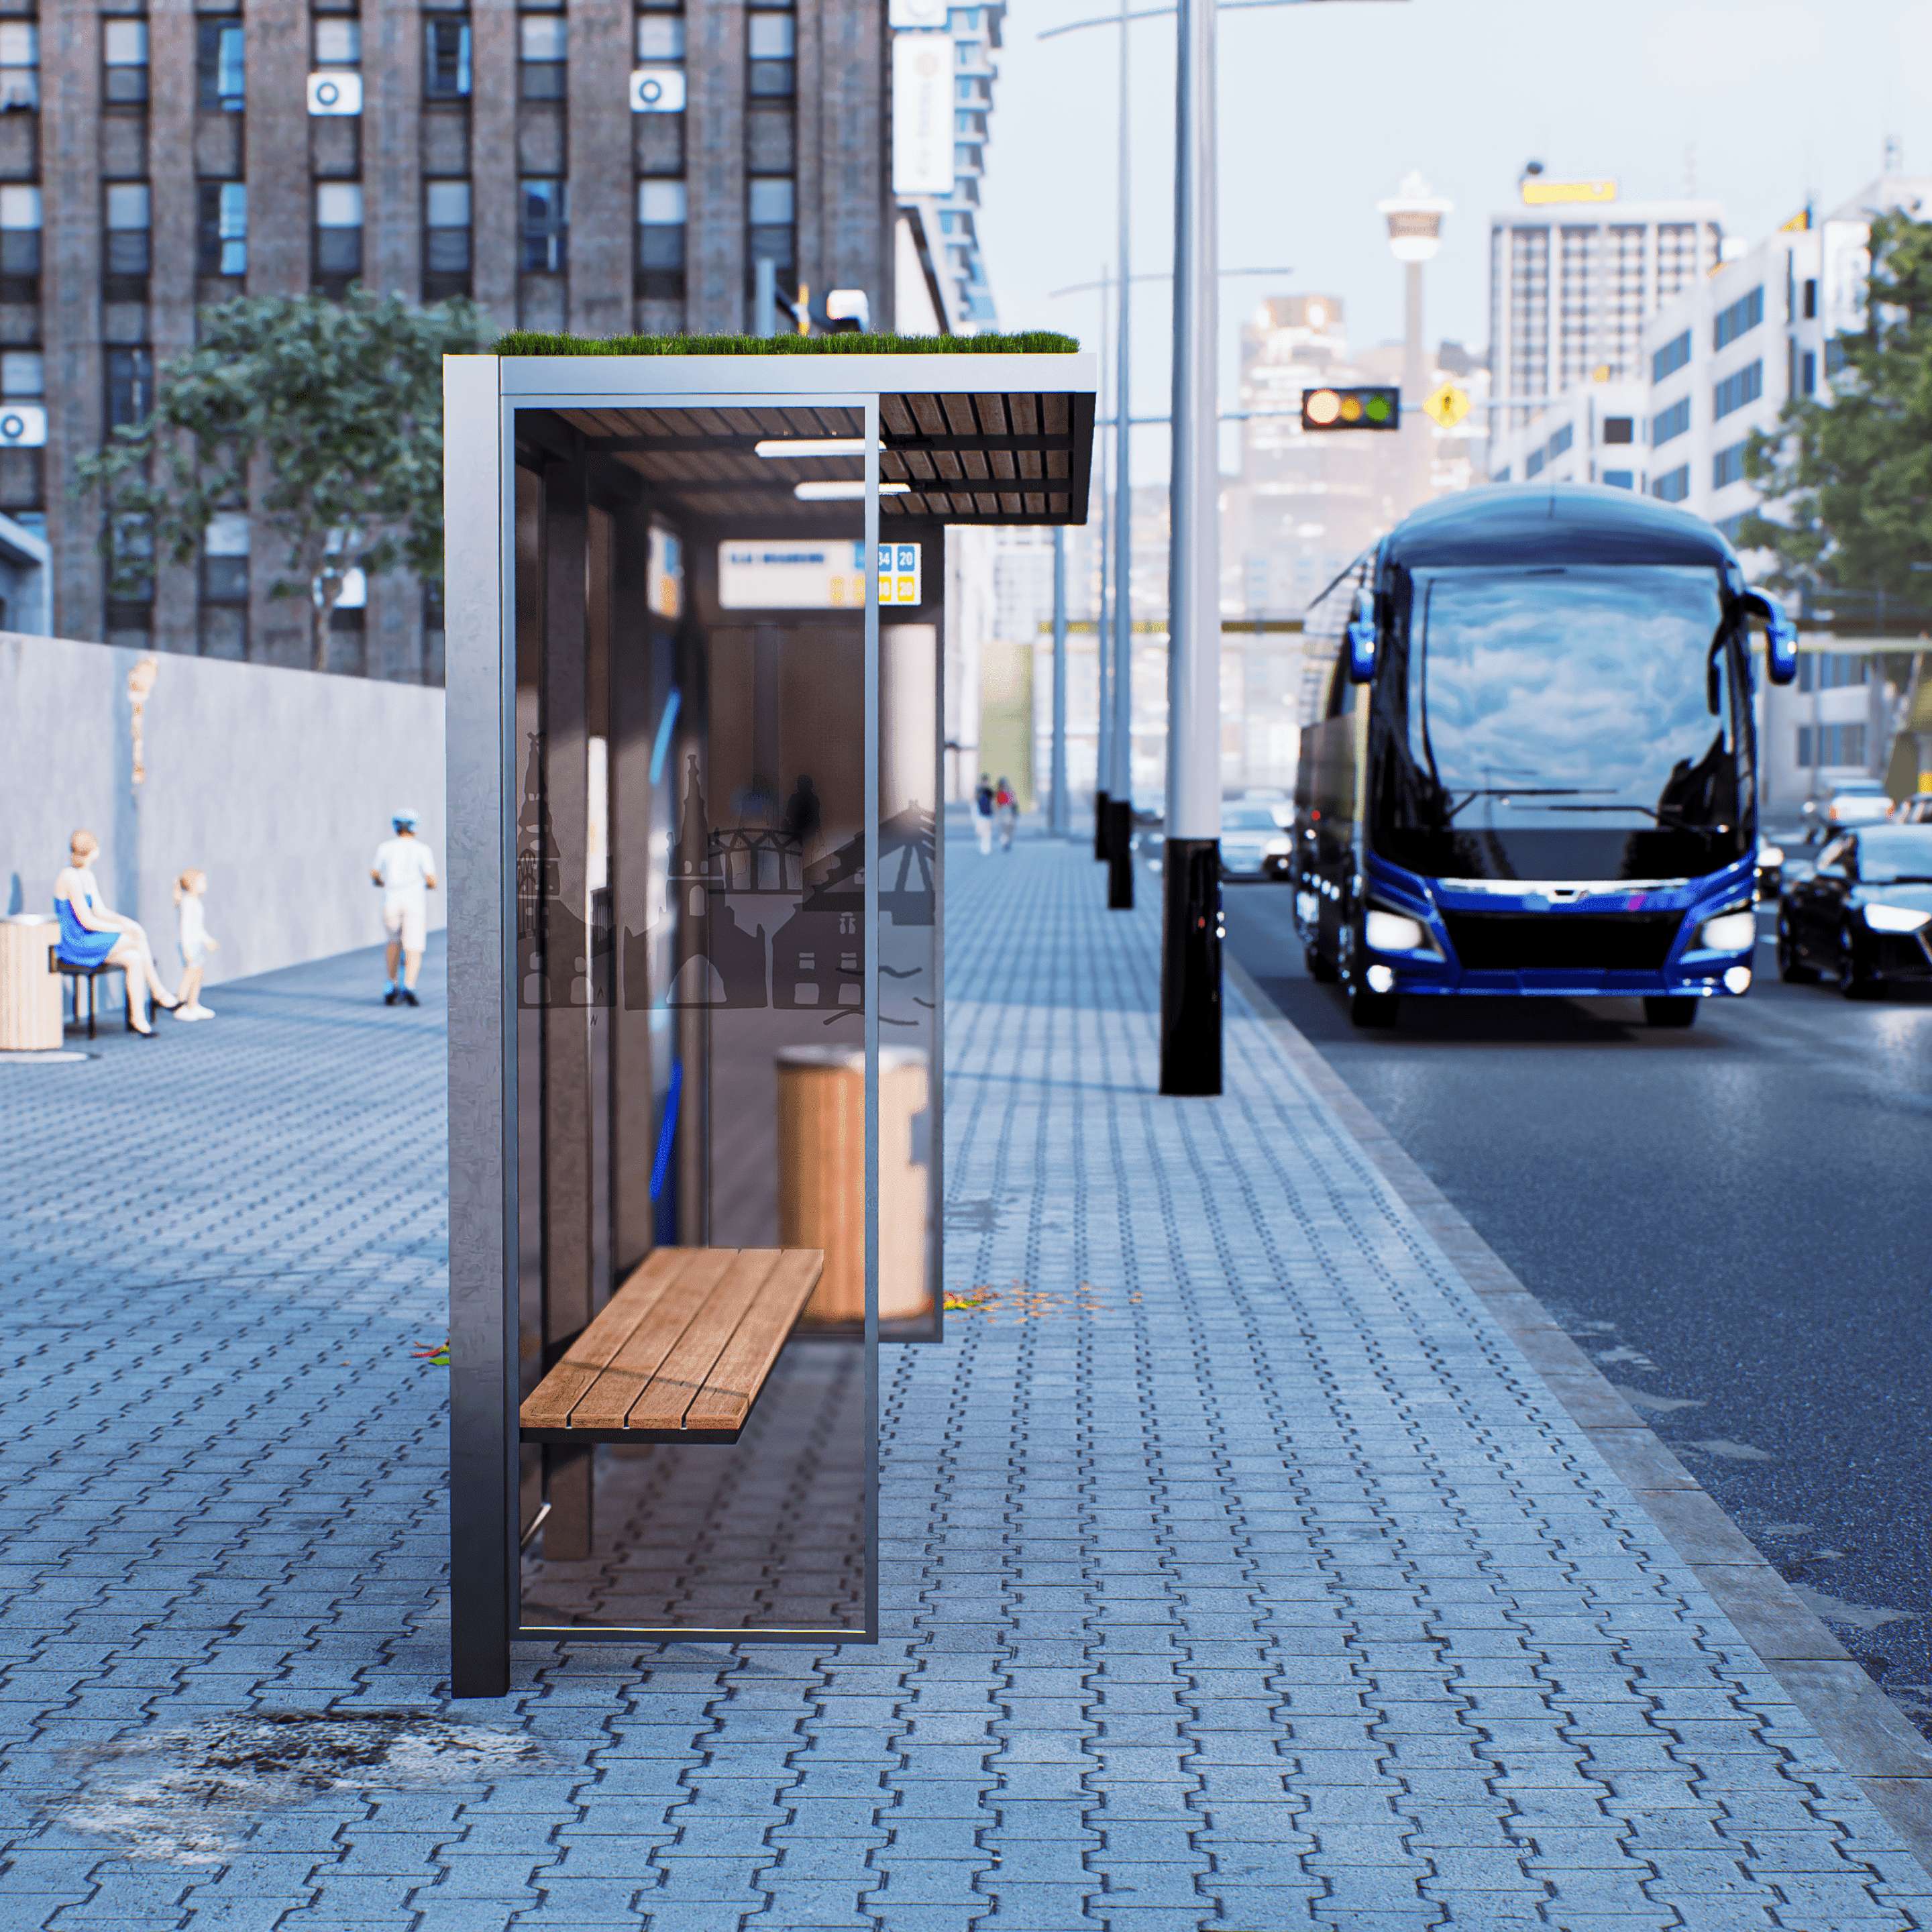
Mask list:
[[[1161,1092],[1221,1092],[1221,452],[1215,4],[1180,0]]]

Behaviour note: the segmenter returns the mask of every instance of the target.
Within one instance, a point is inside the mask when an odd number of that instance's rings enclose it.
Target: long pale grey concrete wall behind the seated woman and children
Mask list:
[[[50,912],[68,835],[170,983],[174,879],[209,875],[209,983],[383,937],[369,860],[400,806],[442,862],[442,692],[160,653],[131,782],[141,653],[0,632],[0,906]],[[431,893],[431,925],[442,923]],[[106,981],[102,981],[102,987]]]

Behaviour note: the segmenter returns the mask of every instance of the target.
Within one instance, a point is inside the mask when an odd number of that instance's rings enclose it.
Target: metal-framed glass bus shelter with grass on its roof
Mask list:
[[[1086,520],[1094,369],[850,340],[446,363],[460,1696],[518,1638],[877,1634],[877,1349],[945,1300],[945,531]]]

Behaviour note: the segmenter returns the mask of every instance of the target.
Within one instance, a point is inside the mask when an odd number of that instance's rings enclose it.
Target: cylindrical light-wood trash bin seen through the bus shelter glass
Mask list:
[[[929,1171],[923,1053],[879,1049],[879,1320],[933,1306],[925,1279]],[[866,1055],[854,1047],[779,1053],[779,1246],[823,1248],[806,1321],[866,1318]]]

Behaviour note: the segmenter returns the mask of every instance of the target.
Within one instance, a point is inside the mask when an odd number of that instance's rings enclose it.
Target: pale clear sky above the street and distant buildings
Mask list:
[[[1144,8],[1151,0],[1132,0]],[[1119,27],[1041,41],[1107,0],[1012,0],[999,56],[983,218],[1005,328],[1097,342],[1095,280],[1115,253]],[[1134,270],[1173,265],[1175,23],[1132,29]],[[1760,240],[1816,197],[1870,182],[1897,135],[1932,174],[1928,0],[1325,0],[1219,15],[1223,396],[1240,313],[1264,294],[1341,296],[1350,342],[1401,334],[1401,269],[1376,203],[1420,170],[1455,203],[1428,270],[1428,336],[1488,338],[1490,214],[1530,158],[1615,176],[1625,199],[1698,195]],[[1134,410],[1167,406],[1169,290],[1134,307]],[[1165,475],[1165,437],[1136,471]]]

